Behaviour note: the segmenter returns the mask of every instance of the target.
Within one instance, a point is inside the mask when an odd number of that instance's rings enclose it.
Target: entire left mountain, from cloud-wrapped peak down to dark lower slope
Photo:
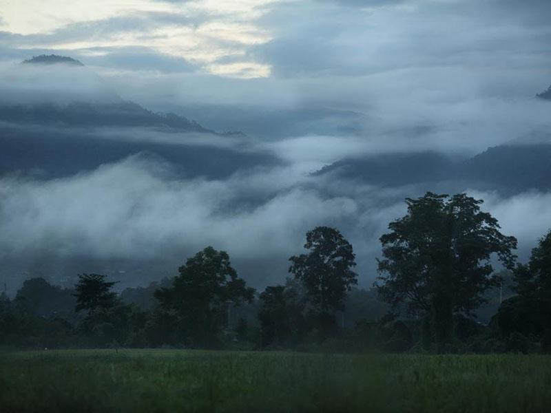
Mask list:
[[[217,134],[123,100],[70,57],[37,56],[15,72],[10,85],[0,82],[8,88],[0,89],[0,175],[61,178],[138,153],[168,161],[186,177],[222,178],[278,162],[270,153],[212,144],[247,138],[238,132]]]

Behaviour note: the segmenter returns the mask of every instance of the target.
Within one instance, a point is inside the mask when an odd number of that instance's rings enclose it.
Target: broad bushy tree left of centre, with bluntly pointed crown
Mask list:
[[[253,288],[238,277],[229,255],[211,246],[188,258],[178,272],[171,287],[156,290],[156,299],[178,315],[191,346],[216,346],[229,304],[252,301]]]

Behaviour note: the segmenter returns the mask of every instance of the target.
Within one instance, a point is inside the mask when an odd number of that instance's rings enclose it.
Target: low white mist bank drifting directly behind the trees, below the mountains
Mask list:
[[[329,152],[320,151],[315,158],[302,142],[280,145],[290,145],[289,151],[278,149],[293,153],[290,163],[220,179],[182,178],[172,165],[143,156],[54,180],[4,176],[3,260],[26,257],[25,262],[32,263],[33,257],[48,257],[76,262],[61,272],[141,268],[129,273],[129,285],[170,273],[185,257],[213,245],[227,250],[242,275],[262,288],[284,279],[287,258],[301,251],[307,230],[331,225],[353,243],[361,285],[370,285],[380,254],[378,238],[388,222],[404,215],[404,198],[420,196],[428,188],[388,189],[313,177],[308,171],[327,160]],[[551,226],[549,193],[503,198],[467,191],[486,200],[483,209],[499,219],[504,233],[519,237],[522,259]],[[152,271],[153,262],[161,263],[161,272]],[[18,265],[19,271],[11,271],[15,282],[28,276],[21,272],[21,261]],[[5,270],[10,268],[6,264]]]

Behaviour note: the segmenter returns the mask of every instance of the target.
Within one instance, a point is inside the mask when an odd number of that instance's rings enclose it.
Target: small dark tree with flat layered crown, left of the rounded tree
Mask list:
[[[116,304],[116,293],[111,288],[116,282],[107,282],[106,275],[81,274],[79,282],[74,287],[76,297],[76,312],[88,310],[93,315],[99,309],[111,308]]]

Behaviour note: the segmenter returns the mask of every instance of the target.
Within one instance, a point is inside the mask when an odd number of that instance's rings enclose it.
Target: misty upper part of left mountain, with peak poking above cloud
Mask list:
[[[0,100],[0,120],[5,122],[84,127],[167,127],[178,131],[214,133],[184,116],[155,113],[123,100],[103,79],[71,57],[43,54],[23,61],[22,65],[25,70],[15,77],[14,89],[8,91],[11,98]],[[66,81],[64,76],[68,77]],[[19,88],[18,81],[21,83]],[[51,87],[50,83],[53,83]],[[26,98],[22,99],[22,96]]]

